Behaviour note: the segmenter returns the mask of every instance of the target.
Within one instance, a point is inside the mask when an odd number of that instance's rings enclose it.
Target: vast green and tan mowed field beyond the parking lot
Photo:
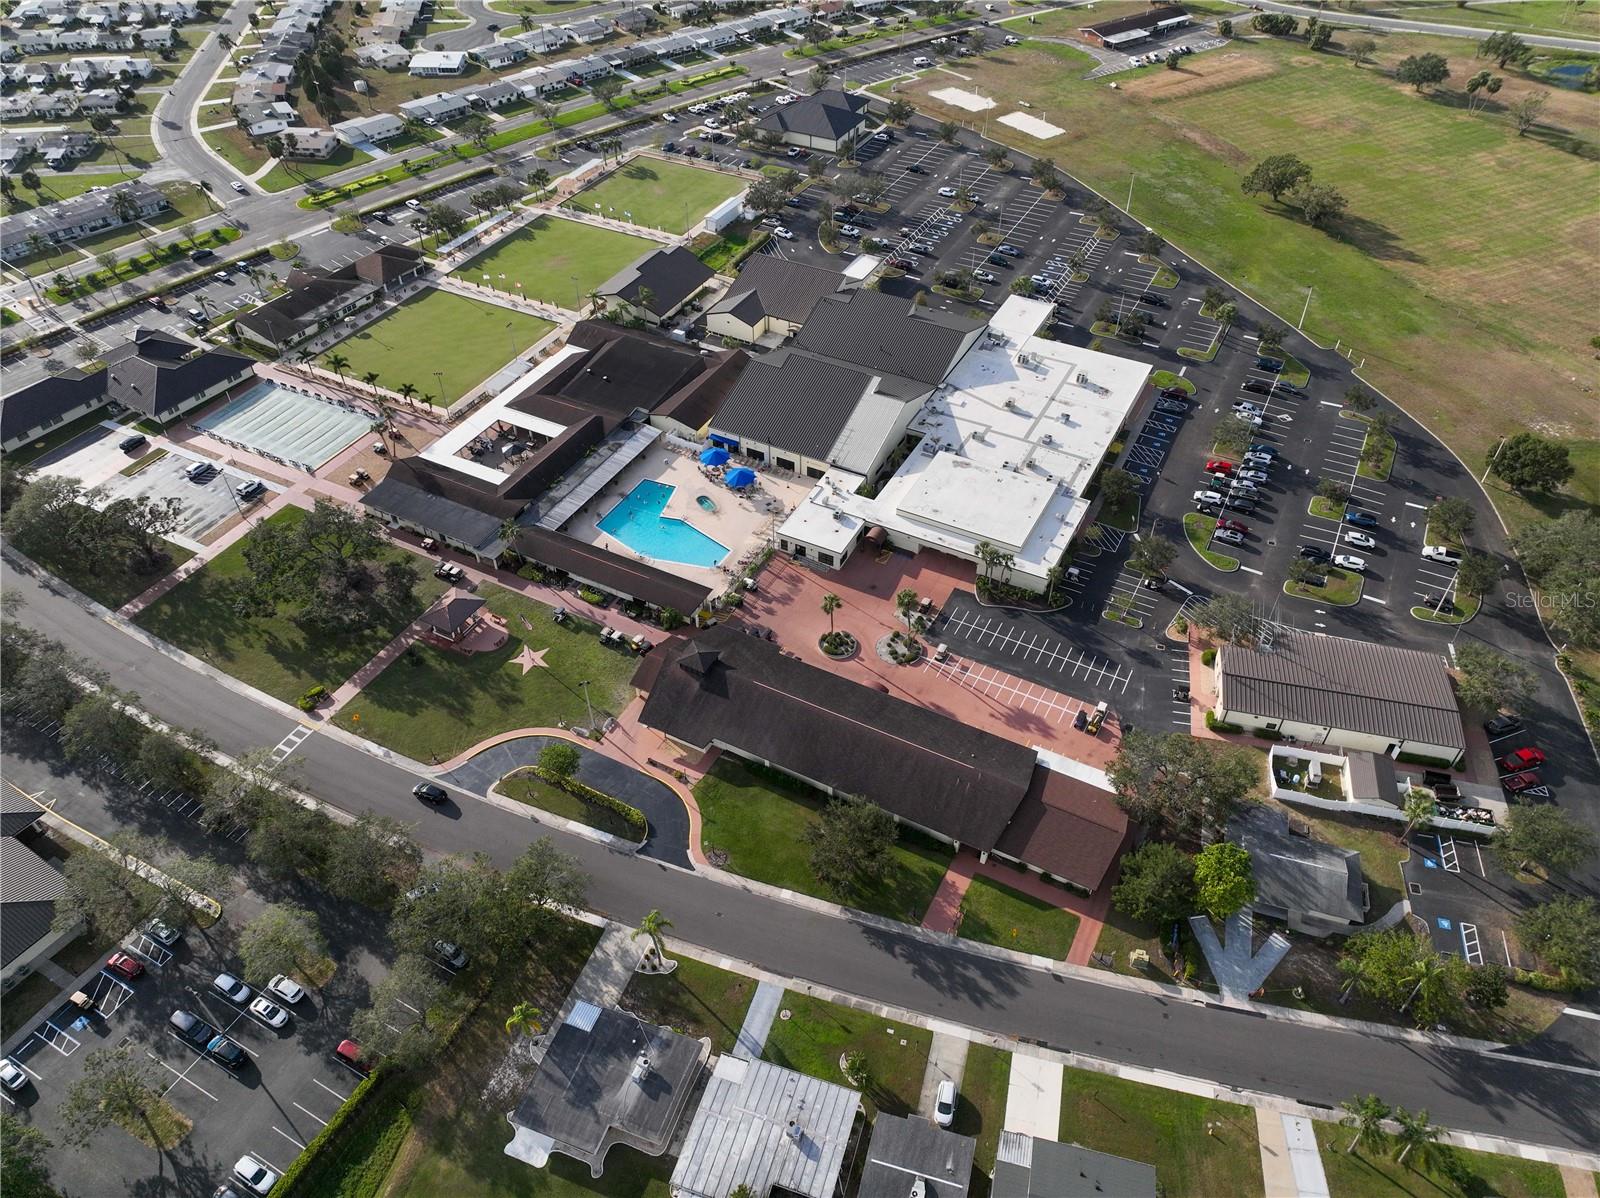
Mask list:
[[[1422,51],[1451,59],[1443,96],[1386,74]],[[1496,437],[1525,427],[1597,437],[1587,342],[1600,310],[1589,269],[1600,165],[1554,133],[1518,138],[1499,104],[1467,114],[1450,86],[1478,66],[1461,42],[1384,37],[1378,64],[1362,69],[1302,42],[1235,42],[1176,72],[1125,75],[1117,91],[1027,48],[962,70],[971,90],[1002,104],[1026,98],[1067,128],[1040,142],[990,120],[992,136],[1051,155],[1118,203],[1131,173],[1134,214],[1256,299],[1293,317],[1314,288],[1306,331],[1350,347],[1363,377],[1475,464]],[[939,86],[933,77],[896,94],[970,122],[928,99]],[[1499,101],[1530,90],[1550,96],[1546,120],[1568,146],[1595,146],[1594,98],[1507,75]],[[1250,166],[1280,152],[1349,197],[1336,232],[1242,195]],[[1589,502],[1600,499],[1594,488]],[[1514,523],[1533,515],[1510,496],[1496,501]]]

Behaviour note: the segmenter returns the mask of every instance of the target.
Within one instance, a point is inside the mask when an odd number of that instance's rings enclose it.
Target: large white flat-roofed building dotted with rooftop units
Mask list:
[[[1013,582],[1042,590],[1150,374],[1141,361],[1035,337],[1050,309],[1008,298],[912,417],[922,443],[878,493],[856,494],[862,475],[829,470],[779,526],[779,545],[838,566],[874,525],[902,549],[971,561],[989,542],[1013,555]]]

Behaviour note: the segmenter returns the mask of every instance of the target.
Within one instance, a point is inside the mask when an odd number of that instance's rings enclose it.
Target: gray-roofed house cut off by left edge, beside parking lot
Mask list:
[[[0,795],[0,993],[83,932],[82,918],[56,928],[56,904],[67,893],[67,881],[37,851],[42,845],[38,819],[45,811],[11,790]]]

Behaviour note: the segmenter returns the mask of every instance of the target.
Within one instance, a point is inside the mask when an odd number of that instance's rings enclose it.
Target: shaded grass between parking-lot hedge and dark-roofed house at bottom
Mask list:
[[[426,1084],[397,1078],[357,1116],[352,1136],[326,1166],[302,1177],[306,1198],[666,1198],[670,1163],[646,1160],[626,1147],[606,1156],[605,1177],[589,1179],[587,1166],[554,1156],[549,1169],[530,1169],[504,1155],[510,1131],[506,1110],[514,1097],[485,1102],[483,1083],[507,1048],[506,1016],[518,1001],[534,1003],[552,1019],[600,929],[557,921],[538,937],[538,950],[520,968],[506,969],[485,1001],[467,1016]]]

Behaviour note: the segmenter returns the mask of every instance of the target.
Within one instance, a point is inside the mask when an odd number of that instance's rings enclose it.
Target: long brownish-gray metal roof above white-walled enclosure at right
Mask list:
[[[1392,741],[1466,749],[1437,653],[1280,629],[1270,649],[1224,645],[1222,707]]]

